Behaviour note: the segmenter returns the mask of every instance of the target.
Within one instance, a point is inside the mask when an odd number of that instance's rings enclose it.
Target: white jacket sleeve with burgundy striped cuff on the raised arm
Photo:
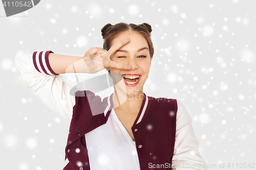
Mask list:
[[[70,94],[72,86],[51,69],[49,53],[53,52],[16,54],[14,66],[28,89],[34,91],[42,102],[70,123],[75,96]]]

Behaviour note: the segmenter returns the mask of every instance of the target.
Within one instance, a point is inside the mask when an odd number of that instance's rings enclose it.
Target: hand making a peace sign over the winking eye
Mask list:
[[[109,51],[103,50],[100,47],[90,48],[86,54],[84,54],[83,59],[87,64],[88,73],[96,73],[104,68],[107,70],[110,67],[119,68],[119,69],[132,69],[131,65],[122,64],[110,60],[110,57],[124,44],[130,41],[129,37],[122,39],[121,41],[114,44]]]

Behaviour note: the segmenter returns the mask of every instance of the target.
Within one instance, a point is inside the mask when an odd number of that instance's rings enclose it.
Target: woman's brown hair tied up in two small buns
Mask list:
[[[118,37],[120,33],[125,31],[134,31],[134,32],[140,33],[146,39],[148,47],[150,48],[149,49],[150,57],[153,58],[154,47],[151,40],[152,28],[151,28],[151,25],[145,22],[140,25],[135,25],[134,23],[127,24],[124,22],[119,22],[114,26],[111,25],[111,23],[106,24],[101,29],[101,35],[102,35],[102,38],[104,39],[103,49],[106,51],[109,51],[112,40]],[[110,70],[109,70],[109,73],[110,73]]]

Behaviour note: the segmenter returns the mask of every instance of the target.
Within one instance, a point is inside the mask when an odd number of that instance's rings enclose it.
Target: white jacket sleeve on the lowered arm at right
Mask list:
[[[181,101],[177,100],[176,138],[172,169],[206,170],[206,162],[199,153],[199,141],[195,136],[192,118]]]

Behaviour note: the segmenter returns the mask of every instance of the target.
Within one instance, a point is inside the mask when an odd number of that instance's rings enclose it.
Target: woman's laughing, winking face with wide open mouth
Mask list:
[[[143,94],[143,86],[148,78],[151,66],[148,44],[146,39],[139,33],[126,31],[113,39],[111,46],[125,37],[130,37],[130,41],[120,47],[111,56],[111,60],[132,65],[132,69],[110,68],[111,72],[118,72],[123,75],[122,81],[117,83],[115,87],[121,89],[128,95]]]

